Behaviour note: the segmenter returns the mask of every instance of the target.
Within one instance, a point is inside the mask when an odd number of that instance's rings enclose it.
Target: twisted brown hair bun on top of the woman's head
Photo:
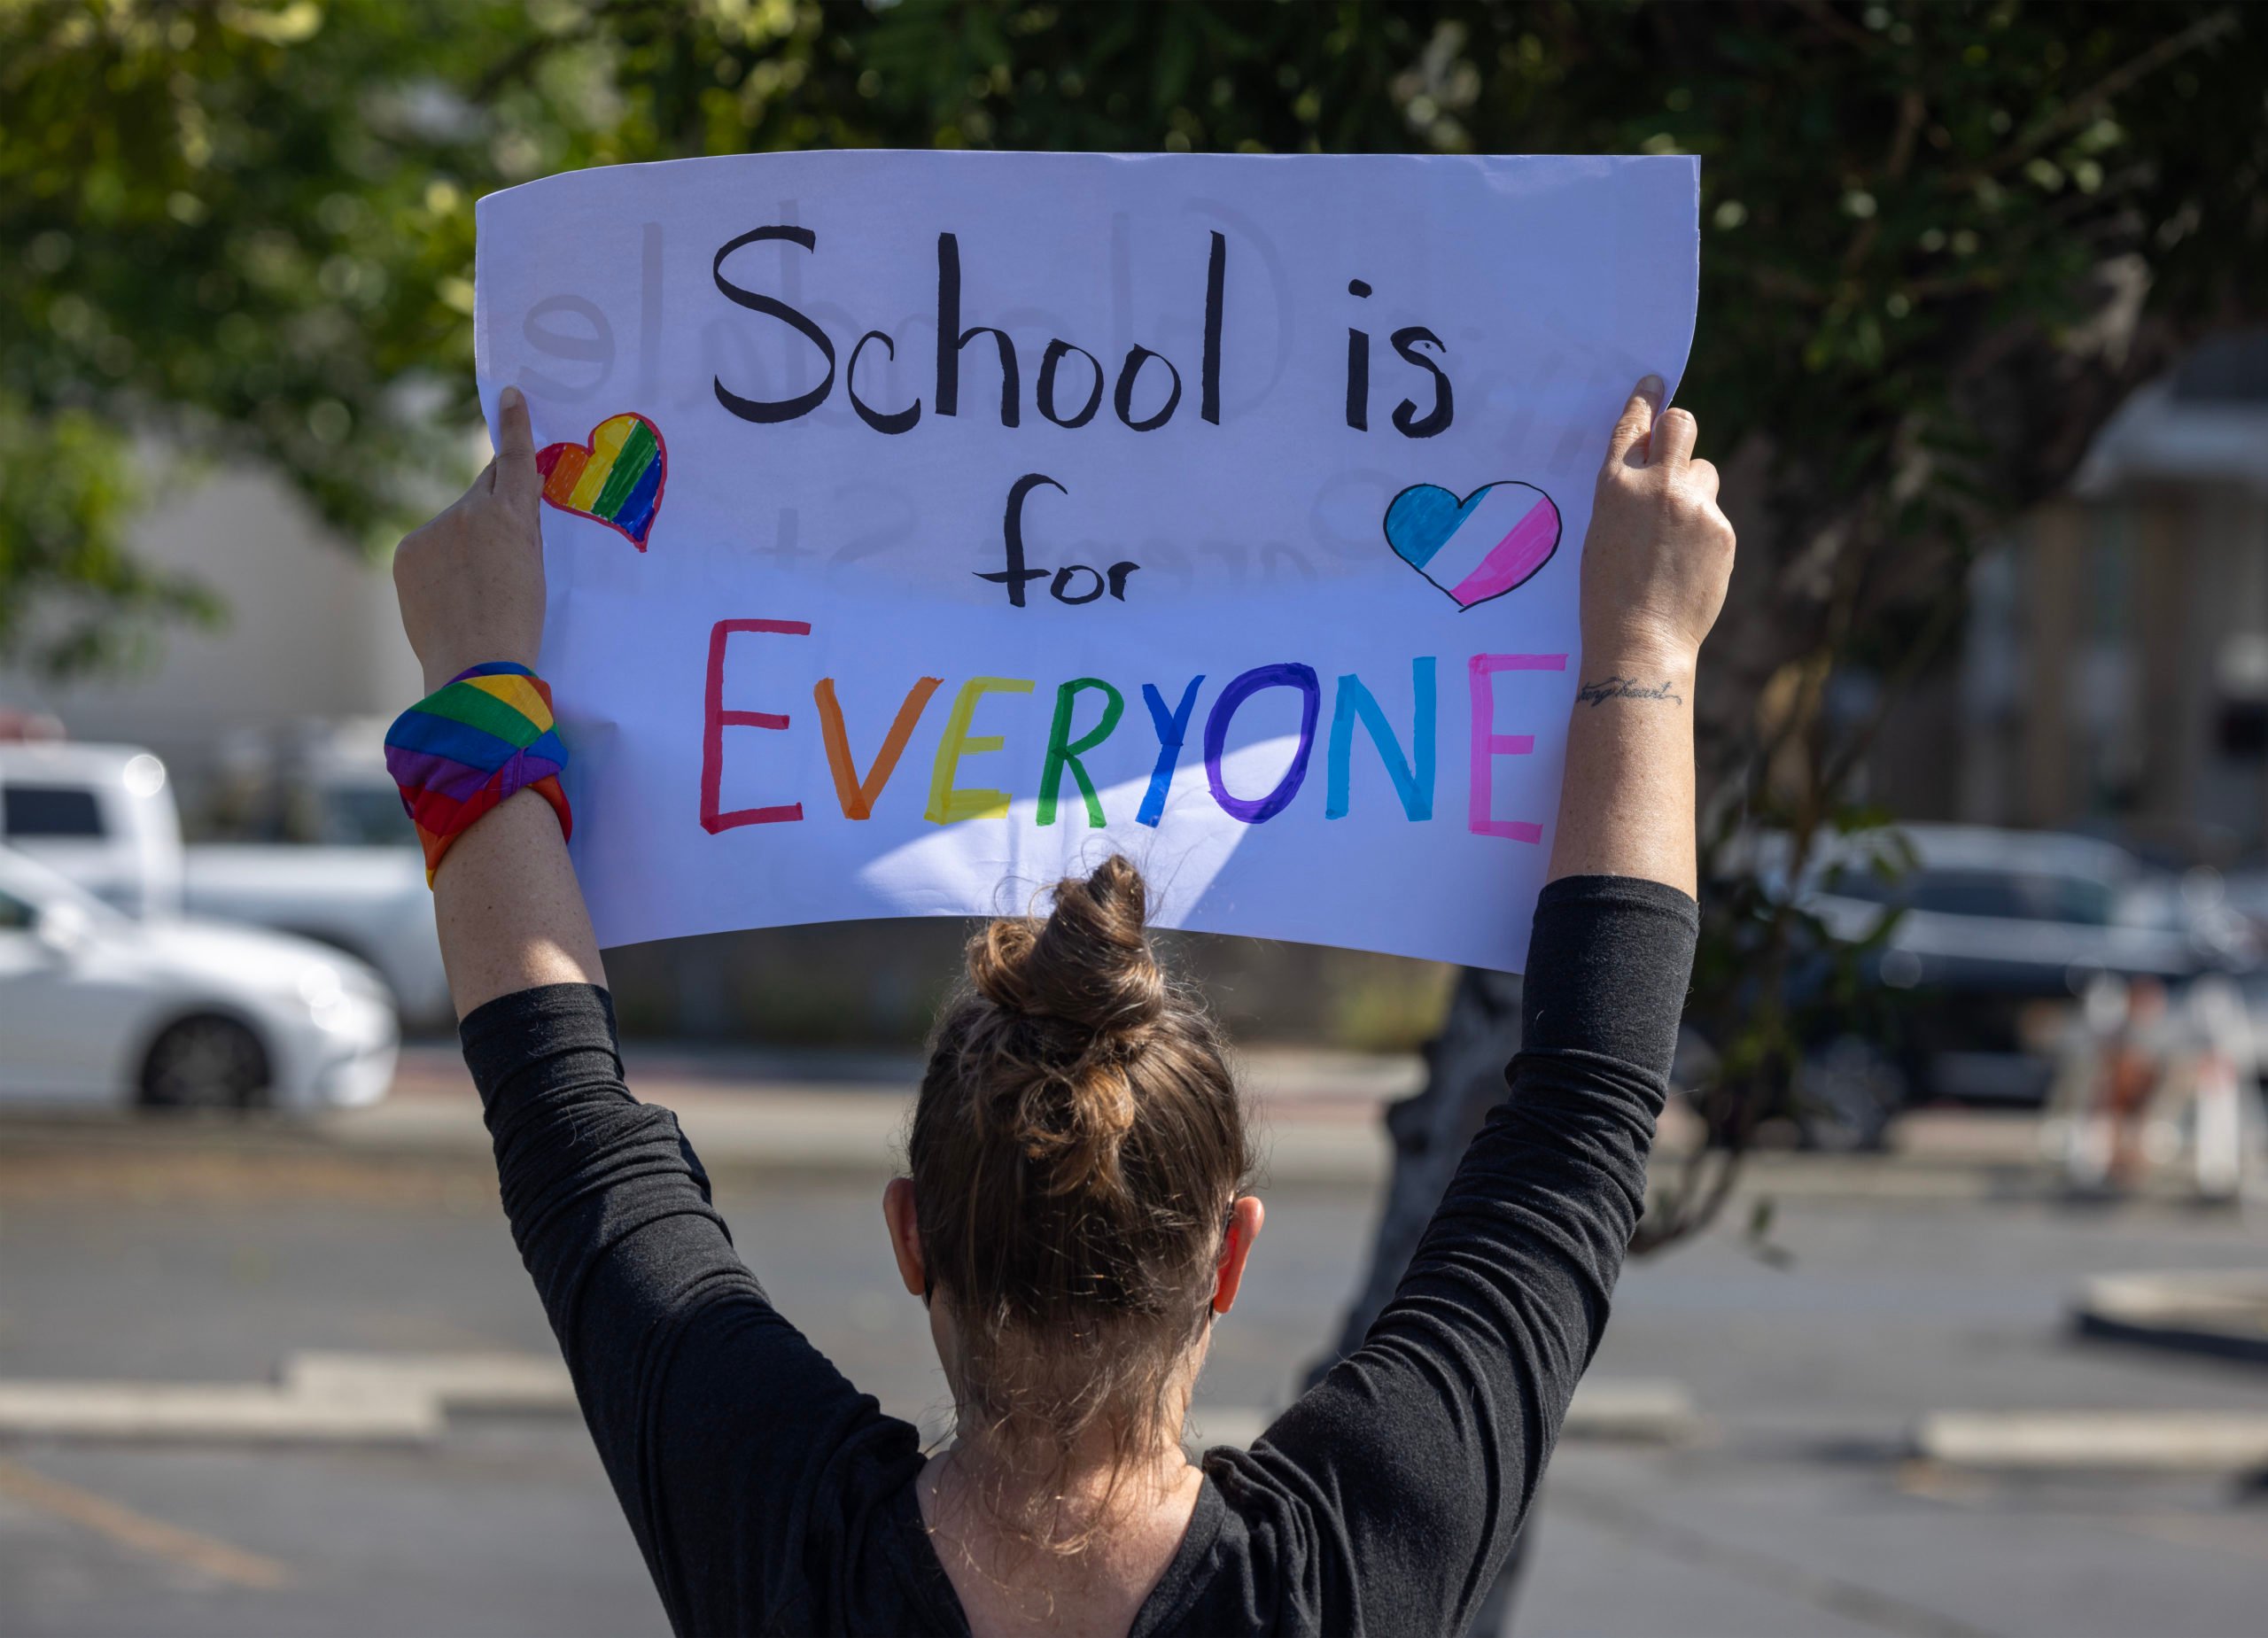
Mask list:
[[[996,1007],[1123,1041],[1166,1010],[1148,912],[1141,871],[1114,853],[1091,876],[1059,880],[1046,921],[993,921],[968,948],[968,978]]]

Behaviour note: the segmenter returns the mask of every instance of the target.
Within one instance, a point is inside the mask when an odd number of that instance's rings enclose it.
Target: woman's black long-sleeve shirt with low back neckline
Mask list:
[[[1250,1450],[1204,1457],[1152,1633],[1463,1633],[1606,1327],[1692,969],[1694,903],[1549,885],[1510,1096],[1393,1305]],[[463,1025],[503,1209],[680,1633],[966,1633],[923,1454],[733,1250],[669,1109],[621,1080],[603,989]]]

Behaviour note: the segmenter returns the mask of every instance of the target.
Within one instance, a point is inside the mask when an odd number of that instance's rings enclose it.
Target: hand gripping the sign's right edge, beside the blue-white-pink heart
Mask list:
[[[1733,524],[1717,467],[1694,458],[1692,413],[1660,411],[1647,377],[1615,422],[1583,540],[1583,672],[1683,676],[1733,579]]]

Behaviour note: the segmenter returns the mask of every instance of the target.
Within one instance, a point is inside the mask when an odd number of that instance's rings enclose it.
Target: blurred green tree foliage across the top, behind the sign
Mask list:
[[[116,660],[200,608],[122,547],[152,438],[268,463],[354,540],[454,476],[501,184],[866,143],[1694,152],[1685,397],[1742,529],[1710,837],[1801,860],[1869,819],[1851,771],[1975,544],[2261,315],[2263,86],[2268,11],[2184,0],[0,0],[0,656]],[[1855,719],[1851,672],[1885,683]],[[1742,883],[1692,1010],[1735,1150],[1789,1098],[1817,939]]]

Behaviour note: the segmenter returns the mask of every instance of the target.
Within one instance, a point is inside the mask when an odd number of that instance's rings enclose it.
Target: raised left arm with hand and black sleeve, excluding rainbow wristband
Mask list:
[[[492,660],[533,667],[542,647],[535,451],[513,388],[497,431],[488,472],[395,556],[426,690]],[[456,837],[433,907],[503,1211],[671,1624],[839,1624],[803,1574],[830,1518],[778,1497],[819,1493],[814,1475],[857,1452],[909,1472],[914,1429],[773,1311],[676,1116],[624,1084],[590,914],[535,790]]]

